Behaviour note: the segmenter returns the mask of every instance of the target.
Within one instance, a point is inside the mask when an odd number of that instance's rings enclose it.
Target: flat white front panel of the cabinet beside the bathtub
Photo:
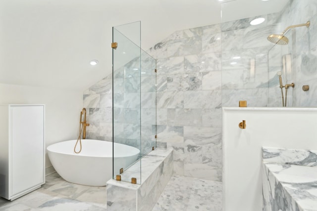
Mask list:
[[[44,182],[44,106],[10,106],[11,195]]]

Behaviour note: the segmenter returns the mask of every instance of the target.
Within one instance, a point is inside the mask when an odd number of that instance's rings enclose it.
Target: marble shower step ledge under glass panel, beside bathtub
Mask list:
[[[150,211],[173,173],[173,150],[155,149],[121,174],[121,181],[107,181],[107,211]],[[132,184],[131,178],[137,179]]]

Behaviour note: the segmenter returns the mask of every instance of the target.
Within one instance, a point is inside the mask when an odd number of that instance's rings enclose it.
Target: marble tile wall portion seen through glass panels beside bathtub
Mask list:
[[[142,156],[156,146],[155,69],[156,60],[142,51],[113,72],[114,141],[140,149]]]

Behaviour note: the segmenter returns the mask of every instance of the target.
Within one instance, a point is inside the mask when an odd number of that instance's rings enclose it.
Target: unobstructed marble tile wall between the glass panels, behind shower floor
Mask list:
[[[148,52],[157,59],[157,140],[174,149],[174,172],[220,181],[220,25],[175,32]]]

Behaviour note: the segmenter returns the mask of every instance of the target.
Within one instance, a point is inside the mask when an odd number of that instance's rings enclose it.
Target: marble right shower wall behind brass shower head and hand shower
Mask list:
[[[270,78],[282,71],[283,84],[294,83],[295,87],[288,90],[287,104],[293,107],[316,107],[317,87],[314,82],[317,79],[317,1],[316,0],[290,0],[284,8],[281,16],[281,24],[274,33],[281,33],[287,26],[303,24],[311,21],[309,28],[299,27],[289,30],[285,36],[289,39],[287,45],[276,45],[269,52]],[[278,32],[279,30],[279,32]],[[284,71],[281,58],[283,55],[291,55],[291,69]],[[270,107],[281,106],[280,89],[277,80],[269,89]],[[304,92],[303,85],[310,85],[310,90]],[[285,94],[285,92],[284,92]],[[276,96],[279,96],[276,100]]]

